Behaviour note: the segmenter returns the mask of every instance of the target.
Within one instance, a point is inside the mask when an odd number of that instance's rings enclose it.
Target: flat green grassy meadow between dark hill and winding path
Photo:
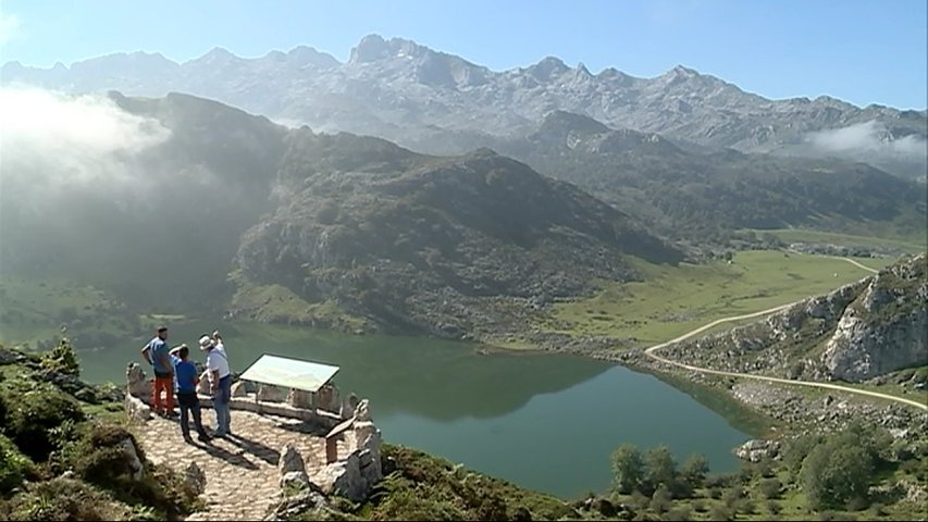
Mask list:
[[[891,259],[857,259],[880,269]],[[828,293],[869,272],[844,260],[772,250],[738,252],[731,264],[679,266],[635,262],[644,282],[599,282],[590,298],[554,306],[535,327],[651,345],[710,321]],[[731,325],[720,325],[719,328]]]

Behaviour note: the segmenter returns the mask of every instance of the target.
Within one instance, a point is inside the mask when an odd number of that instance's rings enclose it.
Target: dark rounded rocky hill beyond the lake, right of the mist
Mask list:
[[[440,159],[308,129],[288,142],[277,210],[236,257],[246,290],[275,285],[388,331],[481,336],[593,279],[636,278],[623,256],[682,260],[630,216],[490,150]],[[247,294],[234,313],[261,313]]]

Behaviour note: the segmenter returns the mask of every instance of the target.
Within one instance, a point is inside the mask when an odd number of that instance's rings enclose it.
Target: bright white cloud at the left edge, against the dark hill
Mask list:
[[[131,197],[147,185],[139,157],[171,135],[102,95],[0,87],[0,190],[8,202],[85,190]]]

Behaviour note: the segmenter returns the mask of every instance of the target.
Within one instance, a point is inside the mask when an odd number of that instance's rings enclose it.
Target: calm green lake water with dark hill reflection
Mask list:
[[[752,427],[726,412],[725,401],[701,402],[652,375],[580,357],[482,356],[462,343],[264,324],[170,327],[171,345],[189,346],[219,327],[238,372],[262,353],[336,364],[339,390],[370,398],[387,442],[566,498],[605,490],[609,453],[622,443],[667,444],[680,461],[700,452],[722,472],[738,465],[731,448],[751,438]],[[146,340],[81,352],[83,376],[124,382],[126,363],[140,361]],[[202,360],[197,350],[193,356]]]

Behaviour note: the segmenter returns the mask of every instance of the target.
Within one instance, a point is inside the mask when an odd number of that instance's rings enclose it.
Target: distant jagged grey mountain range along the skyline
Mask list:
[[[716,148],[842,157],[924,177],[925,111],[857,108],[819,97],[769,100],[691,69],[654,78],[548,57],[491,71],[413,41],[364,37],[339,63],[311,48],[258,59],[214,49],[178,64],[161,54],[119,53],[41,70],[11,62],[2,82],[129,95],[183,91],[280,121],[376,135],[407,147],[459,153],[487,133],[521,135],[553,110],[607,125]]]

